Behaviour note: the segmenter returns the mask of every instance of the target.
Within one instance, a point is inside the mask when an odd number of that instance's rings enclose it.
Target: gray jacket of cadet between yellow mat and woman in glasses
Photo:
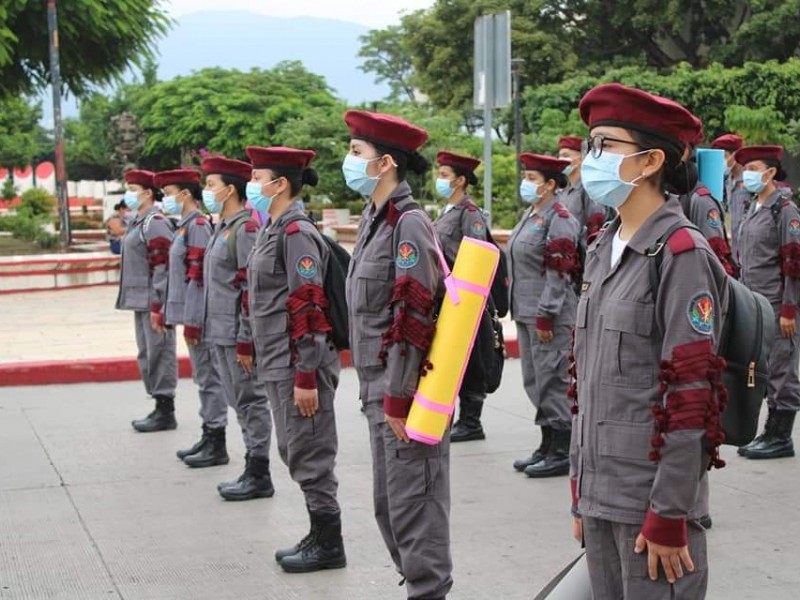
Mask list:
[[[517,223],[507,249],[515,321],[546,331],[555,324],[573,325],[579,236],[580,225],[555,199]]]

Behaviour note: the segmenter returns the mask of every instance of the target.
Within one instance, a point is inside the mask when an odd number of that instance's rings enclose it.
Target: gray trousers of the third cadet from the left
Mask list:
[[[236,346],[215,344],[214,353],[225,397],[236,411],[247,452],[250,456],[269,458],[272,416],[264,383],[256,379],[255,373],[245,373],[236,362]]]

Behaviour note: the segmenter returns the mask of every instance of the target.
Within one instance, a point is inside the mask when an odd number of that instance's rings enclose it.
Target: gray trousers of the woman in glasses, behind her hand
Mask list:
[[[683,577],[670,584],[658,565],[658,579],[647,574],[647,551],[636,554],[641,525],[583,518],[586,562],[594,600],[703,600],[708,588],[706,532],[695,521],[687,523],[689,555],[694,572],[685,567]]]

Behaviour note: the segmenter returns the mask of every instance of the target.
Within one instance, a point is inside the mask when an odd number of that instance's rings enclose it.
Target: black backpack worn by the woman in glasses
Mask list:
[[[694,229],[693,225],[678,223],[661,236],[648,251],[650,261],[650,290],[657,297],[661,280],[662,252],[669,238],[679,229]],[[775,340],[775,320],[769,301],[743,283],[728,276],[728,311],[722,324],[719,355],[727,366],[722,382],[728,390],[728,406],[722,414],[725,444],[743,446],[758,430],[758,415],[767,391],[768,361]]]

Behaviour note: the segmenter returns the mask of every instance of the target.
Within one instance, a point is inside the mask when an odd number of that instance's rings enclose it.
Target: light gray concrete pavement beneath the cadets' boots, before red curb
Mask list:
[[[512,361],[486,410],[489,438],[454,447],[454,600],[529,600],[578,553],[566,481],[511,469],[536,441],[519,382]],[[180,428],[151,435],[128,425],[150,409],[138,384],[0,388],[0,598],[400,600],[371,514],[356,390],[346,371],[338,472],[350,565],[289,576],[272,553],[306,522],[283,465],[274,464],[273,499],[228,504],[215,485],[242,467],[233,427],[229,466],[192,471],[174,457],[199,430],[189,381],[180,383]],[[730,466],[713,473],[709,598],[800,597],[798,463],[724,454]]]

